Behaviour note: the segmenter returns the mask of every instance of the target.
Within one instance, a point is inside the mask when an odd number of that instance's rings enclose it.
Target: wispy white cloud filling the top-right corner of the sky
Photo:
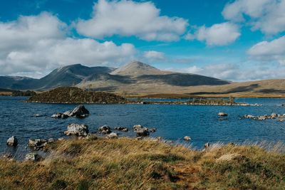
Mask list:
[[[248,21],[266,34],[285,31],[285,0],[236,0],[224,7],[224,19]]]

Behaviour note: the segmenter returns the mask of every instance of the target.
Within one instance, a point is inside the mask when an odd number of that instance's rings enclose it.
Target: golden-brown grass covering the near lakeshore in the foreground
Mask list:
[[[231,144],[206,152],[152,140],[72,139],[41,162],[0,160],[0,189],[284,189],[285,155]],[[240,157],[217,162],[224,154]]]

